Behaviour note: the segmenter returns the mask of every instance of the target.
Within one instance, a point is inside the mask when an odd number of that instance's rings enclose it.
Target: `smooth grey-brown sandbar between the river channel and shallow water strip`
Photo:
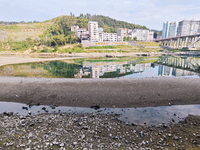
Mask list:
[[[200,104],[200,79],[47,79],[0,77],[0,101],[73,107]]]

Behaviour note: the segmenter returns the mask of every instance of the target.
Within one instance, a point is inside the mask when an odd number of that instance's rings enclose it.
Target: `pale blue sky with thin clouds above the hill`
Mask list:
[[[0,21],[45,21],[70,12],[162,30],[166,21],[200,20],[200,0],[0,0]]]

